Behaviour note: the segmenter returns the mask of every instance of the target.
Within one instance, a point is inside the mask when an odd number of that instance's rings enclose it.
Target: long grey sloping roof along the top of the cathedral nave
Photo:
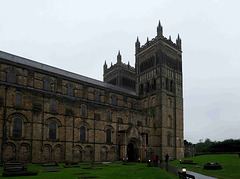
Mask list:
[[[13,55],[13,54],[6,53],[6,52],[3,52],[3,51],[0,51],[0,58],[11,61],[11,62],[14,62],[14,63],[21,64],[21,65],[26,65],[26,66],[30,66],[30,67],[33,67],[33,68],[36,68],[36,69],[43,70],[43,71],[47,71],[47,72],[55,73],[55,74],[58,74],[58,75],[62,75],[62,76],[72,78],[72,79],[75,79],[75,80],[83,81],[83,82],[86,82],[86,83],[89,83],[89,84],[92,84],[92,85],[97,85],[99,87],[107,88],[107,89],[114,90],[114,91],[117,91],[117,92],[120,92],[120,93],[126,93],[126,94],[129,94],[129,95],[136,96],[135,91],[131,91],[131,90],[128,90],[128,89],[125,89],[125,88],[115,86],[115,85],[104,83],[102,81],[99,81],[99,80],[96,80],[96,79],[93,79],[93,78],[89,78],[89,77],[82,76],[82,75],[79,75],[79,74],[76,74],[76,73],[72,73],[72,72],[69,72],[69,71],[66,71],[66,70],[62,70],[62,69],[59,69],[59,68],[56,68],[56,67],[52,67],[52,66],[49,66],[49,65],[46,65],[46,64],[42,64],[42,63],[39,63],[39,62],[36,62],[36,61],[33,61],[33,60],[29,60],[27,58],[23,58],[23,57],[19,57],[19,56]]]

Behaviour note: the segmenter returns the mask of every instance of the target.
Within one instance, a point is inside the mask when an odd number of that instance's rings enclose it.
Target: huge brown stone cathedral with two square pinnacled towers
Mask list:
[[[181,39],[135,43],[104,82],[0,51],[0,162],[183,158]]]

